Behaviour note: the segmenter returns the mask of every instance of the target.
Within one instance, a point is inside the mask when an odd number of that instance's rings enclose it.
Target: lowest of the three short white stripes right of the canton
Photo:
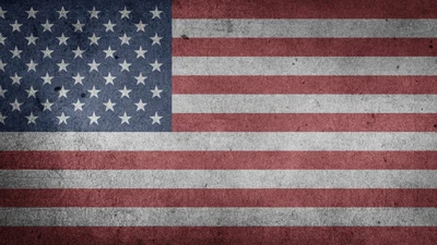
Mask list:
[[[173,111],[174,113],[437,113],[437,95],[174,95]]]

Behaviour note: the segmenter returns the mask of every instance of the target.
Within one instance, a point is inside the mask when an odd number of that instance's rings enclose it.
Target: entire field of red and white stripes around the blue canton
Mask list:
[[[436,244],[436,10],[174,0],[173,132],[1,133],[0,237]]]

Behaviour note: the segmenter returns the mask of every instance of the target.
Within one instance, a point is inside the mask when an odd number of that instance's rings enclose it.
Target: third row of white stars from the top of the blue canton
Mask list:
[[[0,44],[4,46],[4,45],[5,45],[4,41],[7,40],[7,38],[8,38],[8,37],[3,37],[3,36],[0,34]],[[38,37],[35,37],[33,34],[31,34],[31,36],[25,37],[25,38],[27,39],[27,46],[36,45],[36,40],[38,39]],[[88,37],[88,39],[90,39],[90,45],[98,46],[98,40],[99,40],[101,38],[102,38],[102,37],[98,37],[98,36],[95,35],[95,33],[93,33],[93,36]],[[61,46],[61,45],[68,46],[67,40],[70,39],[70,37],[67,37],[67,36],[62,33],[62,35],[61,35],[60,37],[57,37],[57,39],[59,40],[59,46]],[[130,45],[129,41],[130,41],[130,39],[132,39],[132,37],[128,37],[128,36],[126,35],[126,33],[125,33],[122,37],[119,37],[119,39],[120,39],[120,41],[121,41],[121,45],[120,45],[120,46],[123,46],[123,45],[129,46],[129,45]],[[157,33],[155,33],[155,36],[150,37],[150,39],[152,39],[152,46],[154,46],[154,45],[160,45],[160,46],[161,46],[161,39],[163,39],[163,37],[160,37],[160,36],[157,35]],[[14,42],[15,42],[15,41],[14,41]],[[15,46],[15,49],[17,49],[16,46]],[[79,49],[79,47],[78,47],[78,49]],[[13,50],[10,50],[10,51],[13,53]],[[22,51],[22,50],[20,50],[20,51]],[[14,58],[14,57],[12,57],[12,58]]]

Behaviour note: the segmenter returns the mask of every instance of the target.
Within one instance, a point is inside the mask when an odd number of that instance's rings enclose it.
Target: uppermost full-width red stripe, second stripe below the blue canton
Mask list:
[[[429,169],[437,151],[0,151],[0,169]]]

